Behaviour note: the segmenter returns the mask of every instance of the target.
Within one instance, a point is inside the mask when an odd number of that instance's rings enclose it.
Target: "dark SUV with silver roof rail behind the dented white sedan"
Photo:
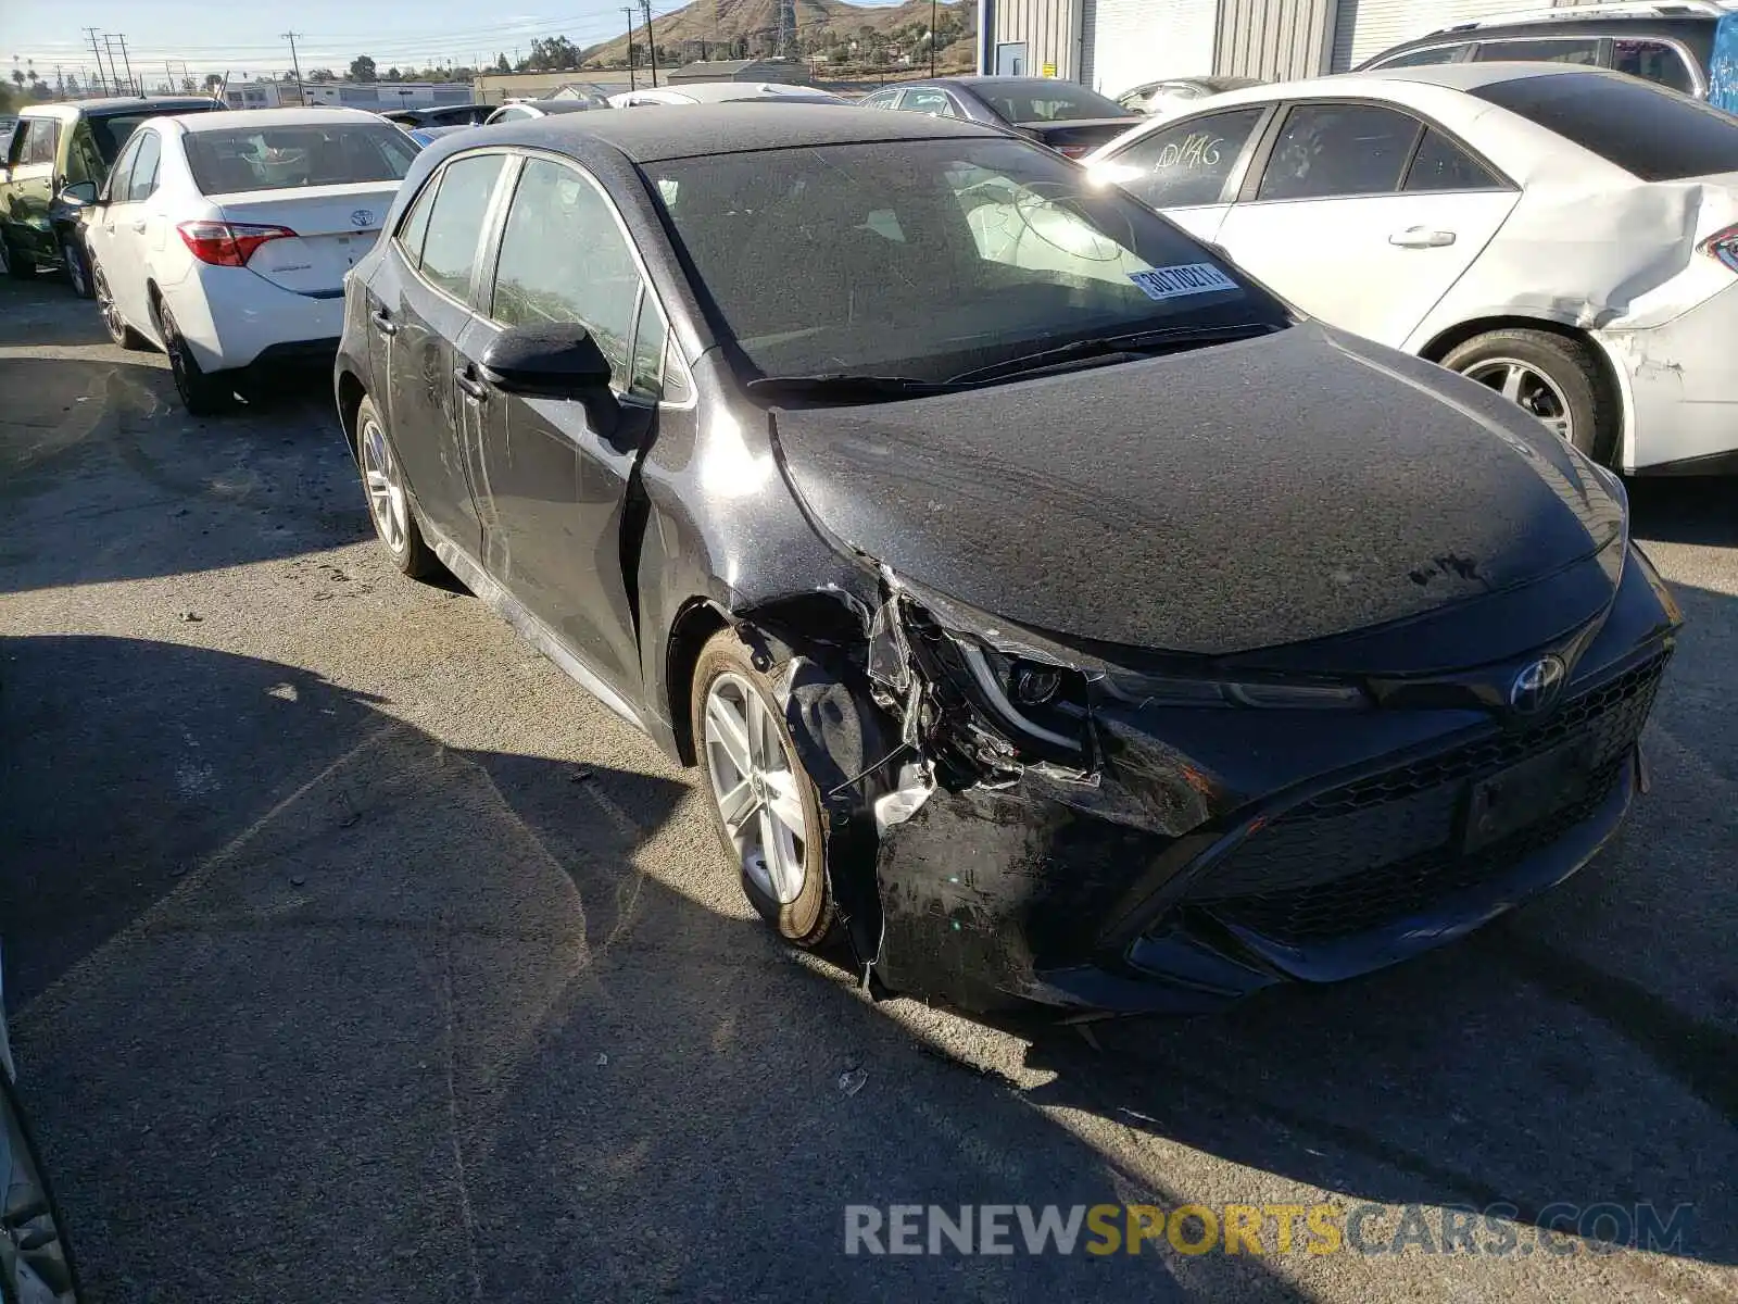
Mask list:
[[[1566,7],[1456,23],[1366,59],[1371,68],[1436,63],[1578,63],[1613,68],[1738,111],[1738,12],[1714,0],[1662,5]],[[1615,5],[1611,7],[1616,9]]]

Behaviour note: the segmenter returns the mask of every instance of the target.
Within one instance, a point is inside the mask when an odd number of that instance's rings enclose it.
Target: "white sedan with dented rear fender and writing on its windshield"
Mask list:
[[[1738,471],[1738,118],[1571,64],[1392,68],[1215,96],[1086,165],[1613,468]]]

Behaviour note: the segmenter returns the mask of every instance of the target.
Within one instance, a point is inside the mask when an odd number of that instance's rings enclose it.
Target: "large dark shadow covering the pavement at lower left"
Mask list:
[[[711,838],[674,775],[455,749],[205,649],[0,655],[14,1038],[92,1301],[1302,1297],[1152,1247],[846,1257],[852,1203],[1182,1194],[926,1054],[723,871],[666,885]]]

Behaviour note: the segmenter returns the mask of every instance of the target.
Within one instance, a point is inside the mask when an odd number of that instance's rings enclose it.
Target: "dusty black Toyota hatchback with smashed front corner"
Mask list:
[[[1578,869],[1679,624],[1620,482],[989,129],[733,104],[448,137],[351,273],[344,429],[704,772],[874,991],[1199,1010]]]

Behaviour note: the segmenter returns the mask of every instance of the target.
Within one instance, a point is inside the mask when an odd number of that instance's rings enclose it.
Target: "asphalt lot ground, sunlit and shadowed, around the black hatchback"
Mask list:
[[[1731,494],[1635,487],[1689,631],[1592,866],[1376,979],[1090,1045],[779,948],[690,774],[386,565],[323,379],[193,421],[87,304],[0,285],[0,930],[89,1297],[1738,1299]],[[852,1203],[1123,1201],[1519,1234],[843,1252]],[[1557,1201],[1695,1210],[1675,1252],[1554,1254]]]

